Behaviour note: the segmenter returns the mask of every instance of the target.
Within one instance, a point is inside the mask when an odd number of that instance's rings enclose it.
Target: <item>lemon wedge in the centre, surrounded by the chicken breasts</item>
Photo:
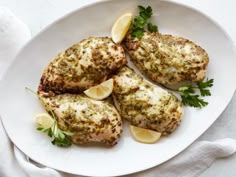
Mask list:
[[[101,84],[84,91],[85,95],[95,100],[107,98],[113,90],[113,79],[109,79]]]

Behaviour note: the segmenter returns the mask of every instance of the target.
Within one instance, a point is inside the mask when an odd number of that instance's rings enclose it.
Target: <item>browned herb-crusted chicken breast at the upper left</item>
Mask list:
[[[126,64],[125,52],[108,37],[90,37],[60,53],[44,70],[39,90],[79,93]]]

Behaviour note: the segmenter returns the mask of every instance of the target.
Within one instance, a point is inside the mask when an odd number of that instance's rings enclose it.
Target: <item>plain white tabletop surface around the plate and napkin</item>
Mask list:
[[[26,23],[32,35],[81,5],[95,0],[0,0],[0,6],[9,8]],[[175,0],[192,6],[217,21],[236,43],[235,0]],[[223,58],[222,58],[223,60]],[[236,67],[236,66],[235,66]],[[225,71],[219,71],[225,72]],[[236,77],[236,76],[235,76]],[[236,80],[232,81],[236,82]],[[216,140],[230,137],[236,139],[236,96],[212,127],[199,139]],[[218,125],[218,126],[216,126]],[[219,126],[220,125],[220,126]],[[222,127],[218,129],[215,127]],[[236,155],[216,161],[201,177],[235,177]]]

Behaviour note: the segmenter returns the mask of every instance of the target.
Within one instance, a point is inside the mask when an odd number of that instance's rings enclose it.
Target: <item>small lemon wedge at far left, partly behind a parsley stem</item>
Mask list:
[[[39,113],[34,116],[39,126],[49,128],[53,125],[54,120],[48,113]]]

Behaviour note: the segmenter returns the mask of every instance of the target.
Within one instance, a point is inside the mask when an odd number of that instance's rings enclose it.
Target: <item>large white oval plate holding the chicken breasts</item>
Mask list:
[[[142,3],[143,2],[143,3]],[[148,2],[148,3],[147,3]],[[147,3],[147,4],[145,4]],[[36,131],[32,115],[44,111],[38,99],[25,91],[37,89],[43,69],[60,51],[89,36],[110,36],[113,22],[125,12],[137,13],[137,5],[151,5],[153,22],[162,33],[189,38],[210,56],[208,77],[214,78],[209,106],[186,108],[180,127],[158,143],[133,140],[127,127],[111,148],[72,146],[58,148]],[[158,16],[156,15],[158,12]],[[106,1],[79,9],[56,21],[33,38],[19,53],[0,86],[1,116],[11,140],[26,155],[46,166],[87,176],[115,176],[145,170],[174,157],[196,140],[218,118],[236,87],[236,53],[230,38],[211,19],[173,2]]]

